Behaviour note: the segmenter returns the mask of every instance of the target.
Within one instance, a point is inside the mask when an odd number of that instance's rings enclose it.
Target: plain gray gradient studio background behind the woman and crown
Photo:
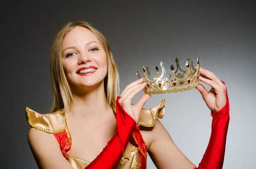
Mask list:
[[[2,2],[3,3],[3,2]],[[136,80],[134,67],[186,63],[201,66],[227,85],[230,126],[224,169],[256,168],[256,6],[250,1],[31,1],[1,4],[1,167],[37,168],[28,143],[25,107],[49,112],[52,105],[49,52],[61,27],[86,20],[112,47],[121,89]],[[167,66],[169,67],[169,66]],[[210,89],[207,86],[207,89]],[[140,93],[134,102],[139,99]],[[145,107],[167,98],[161,120],[181,151],[196,165],[211,133],[210,111],[201,94],[153,95]],[[154,169],[148,158],[148,169]]]

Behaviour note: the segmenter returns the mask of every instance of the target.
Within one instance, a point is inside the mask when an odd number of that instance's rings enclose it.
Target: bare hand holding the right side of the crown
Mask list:
[[[201,93],[208,108],[213,112],[218,112],[226,104],[226,86],[218,77],[206,69],[200,67],[199,80],[210,85],[212,89],[209,92],[203,85],[198,84],[196,89]]]

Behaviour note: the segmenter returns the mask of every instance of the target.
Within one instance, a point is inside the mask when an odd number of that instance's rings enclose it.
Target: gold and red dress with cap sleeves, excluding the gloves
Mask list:
[[[152,127],[157,117],[163,118],[166,99],[157,106],[142,109],[140,119],[132,135],[136,145],[131,145],[131,150],[125,152],[119,161],[117,169],[146,169],[147,145],[140,133],[140,126]],[[115,110],[115,106],[113,106]],[[60,145],[60,150],[74,169],[84,169],[89,161],[69,155],[72,138],[67,126],[67,118],[63,109],[49,114],[40,114],[26,107],[26,118],[30,126],[44,132],[52,133]]]

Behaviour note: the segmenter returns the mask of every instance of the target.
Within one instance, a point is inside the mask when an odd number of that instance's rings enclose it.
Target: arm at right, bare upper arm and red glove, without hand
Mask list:
[[[222,169],[230,119],[228,97],[226,105],[218,112],[211,112],[211,115],[212,132],[198,169]],[[149,146],[148,154],[158,169],[197,169],[178,149],[159,120],[151,132],[154,138]]]

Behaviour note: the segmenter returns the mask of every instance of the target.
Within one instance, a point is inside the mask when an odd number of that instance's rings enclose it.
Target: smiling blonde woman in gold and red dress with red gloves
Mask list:
[[[143,109],[151,97],[143,95],[132,104],[146,86],[143,78],[117,96],[119,77],[110,46],[88,23],[68,23],[58,32],[51,49],[51,72],[52,113],[41,115],[26,108],[32,126],[29,146],[39,168],[145,169],[147,152],[157,168],[196,168],[156,118],[163,117],[166,101]],[[200,80],[212,89],[208,92],[201,84],[196,89],[213,121],[198,169],[221,169],[229,123],[227,89],[212,72],[201,68],[200,73]]]

